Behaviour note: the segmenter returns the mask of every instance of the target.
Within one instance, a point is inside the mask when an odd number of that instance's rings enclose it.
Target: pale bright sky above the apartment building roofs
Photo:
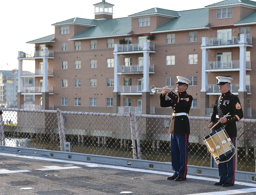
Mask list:
[[[52,24],[70,18],[94,19],[93,4],[102,0],[9,0],[2,1],[0,70],[18,68],[18,51],[34,52],[35,44],[26,42],[54,34]],[[106,0],[115,5],[113,18],[123,18],[154,7],[182,11],[204,8],[221,0]],[[23,60],[23,70],[34,70],[34,61]]]

